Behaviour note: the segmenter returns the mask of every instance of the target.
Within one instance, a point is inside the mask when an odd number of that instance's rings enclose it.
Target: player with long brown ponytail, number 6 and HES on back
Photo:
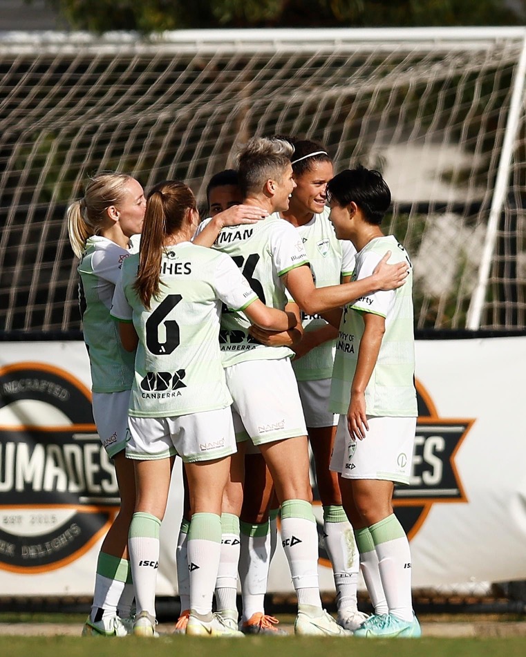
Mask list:
[[[241,636],[212,615],[221,500],[236,451],[218,343],[221,302],[261,327],[288,330],[297,323],[294,314],[265,307],[231,258],[192,244],[197,225],[189,187],[173,181],[155,187],[140,256],[124,263],[113,298],[124,346],[137,345],[126,457],[134,461],[137,488],[129,552],[139,636],[156,634],[159,528],[176,454],[185,464],[192,512],[187,634]]]

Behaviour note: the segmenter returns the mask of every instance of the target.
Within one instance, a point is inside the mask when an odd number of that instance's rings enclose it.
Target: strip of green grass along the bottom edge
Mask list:
[[[524,638],[368,640],[297,637],[158,639],[0,637],[2,657],[523,657]]]

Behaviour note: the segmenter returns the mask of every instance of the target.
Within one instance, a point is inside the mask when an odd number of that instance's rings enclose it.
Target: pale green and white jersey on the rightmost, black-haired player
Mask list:
[[[357,254],[353,280],[373,274],[387,251],[393,254],[389,263],[406,262],[410,265],[410,273],[402,287],[362,296],[344,308],[332,371],[329,406],[332,412],[341,415],[346,415],[349,407],[350,387],[355,376],[361,337],[364,334],[362,314],[365,312],[379,314],[386,320],[378,359],[365,392],[367,415],[418,415],[414,383],[415,338],[411,260],[393,235],[375,238]]]

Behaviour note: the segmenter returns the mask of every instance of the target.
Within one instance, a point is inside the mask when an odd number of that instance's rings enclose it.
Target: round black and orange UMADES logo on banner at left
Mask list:
[[[113,435],[106,439],[111,442]],[[118,510],[91,394],[42,363],[0,370],[0,569],[38,573],[79,558]]]

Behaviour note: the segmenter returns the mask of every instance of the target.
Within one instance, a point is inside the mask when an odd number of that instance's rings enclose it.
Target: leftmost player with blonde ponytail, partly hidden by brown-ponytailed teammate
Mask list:
[[[100,173],[67,211],[69,239],[80,259],[79,292],[91,365],[93,417],[113,459],[121,498],[119,513],[100,549],[93,607],[83,635],[124,636],[131,629],[133,585],[127,545],[135,479],[124,448],[133,354],[122,348],[110,307],[122,263],[131,253],[130,238],[142,230],[145,207],[137,180],[123,173]]]

